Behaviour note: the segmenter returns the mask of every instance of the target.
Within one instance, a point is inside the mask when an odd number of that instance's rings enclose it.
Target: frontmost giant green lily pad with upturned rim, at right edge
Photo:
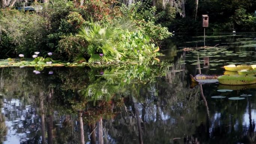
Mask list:
[[[254,76],[223,75],[218,77],[219,83],[223,85],[250,85],[256,83]]]

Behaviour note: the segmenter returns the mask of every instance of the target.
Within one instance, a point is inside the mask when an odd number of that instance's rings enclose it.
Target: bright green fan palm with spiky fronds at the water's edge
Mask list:
[[[88,62],[111,62],[119,60],[123,53],[117,45],[118,33],[114,28],[94,23],[92,27],[80,28],[78,37],[88,42],[88,47],[80,50],[90,56]]]

